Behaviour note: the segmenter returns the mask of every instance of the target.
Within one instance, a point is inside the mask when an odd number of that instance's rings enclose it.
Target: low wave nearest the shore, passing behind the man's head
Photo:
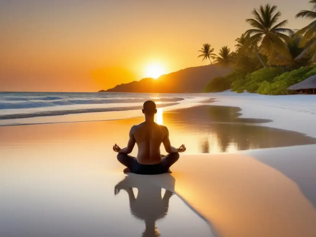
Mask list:
[[[179,103],[159,104],[157,105],[157,108],[161,108],[165,106],[173,106],[177,104]],[[76,109],[76,110],[43,111],[43,112],[34,112],[34,113],[4,114],[4,115],[0,115],[0,119],[25,119],[25,118],[33,118],[33,117],[58,116],[58,115],[76,114],[76,113],[139,110],[142,108],[143,106],[129,106],[129,107],[91,108],[91,109]]]

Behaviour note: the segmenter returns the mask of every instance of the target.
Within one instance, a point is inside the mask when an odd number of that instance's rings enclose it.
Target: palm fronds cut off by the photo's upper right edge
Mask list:
[[[315,49],[316,44],[316,0],[311,0],[309,3],[313,4],[312,11],[301,10],[295,15],[298,17],[310,18],[313,21],[309,23],[306,27],[298,30],[295,35],[302,36],[300,40],[300,47],[305,47],[305,50],[297,57],[297,59],[303,58],[307,53]],[[314,56],[313,56],[314,58]]]

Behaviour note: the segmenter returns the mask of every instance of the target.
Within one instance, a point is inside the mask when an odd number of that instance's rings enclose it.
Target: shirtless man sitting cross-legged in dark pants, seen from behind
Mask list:
[[[127,147],[121,149],[117,144],[113,146],[113,150],[119,153],[117,159],[127,167],[124,169],[124,173],[160,174],[170,172],[169,167],[178,161],[179,152],[186,150],[185,145],[182,144],[178,149],[172,147],[167,127],[154,122],[157,113],[154,101],[146,101],[142,111],[145,115],[145,122],[132,126]],[[128,155],[132,152],[135,143],[138,147],[137,158]],[[169,153],[166,157],[160,154],[161,143]]]

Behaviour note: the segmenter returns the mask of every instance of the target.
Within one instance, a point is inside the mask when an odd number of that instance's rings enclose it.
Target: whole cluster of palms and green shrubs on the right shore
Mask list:
[[[253,18],[246,19],[250,27],[235,40],[234,51],[223,46],[216,54],[210,44],[204,44],[198,57],[231,69],[226,76],[217,73],[204,92],[291,94],[289,86],[316,75],[316,0],[310,3],[312,10],[296,15],[312,19],[302,29],[287,28],[288,21],[281,21],[277,6],[266,4],[252,10]]]

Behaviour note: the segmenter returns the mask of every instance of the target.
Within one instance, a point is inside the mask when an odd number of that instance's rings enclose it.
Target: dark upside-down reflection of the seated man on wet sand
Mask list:
[[[137,198],[135,198],[132,188],[138,189]],[[114,194],[125,190],[128,193],[130,201],[131,214],[137,219],[145,221],[146,228],[143,237],[157,237],[160,233],[155,227],[155,222],[167,215],[169,199],[173,192],[166,190],[161,197],[161,187],[145,182],[137,182],[133,177],[126,176],[114,188]]]

